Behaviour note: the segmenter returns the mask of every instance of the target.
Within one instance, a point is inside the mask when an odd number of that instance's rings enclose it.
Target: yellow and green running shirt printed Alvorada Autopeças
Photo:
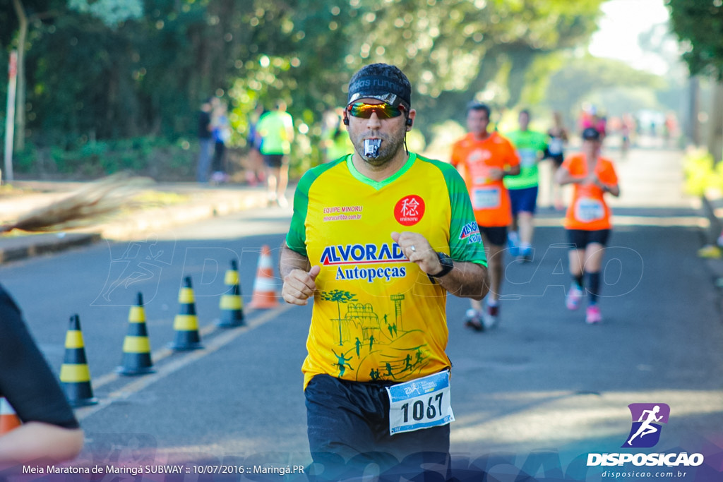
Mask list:
[[[317,374],[404,382],[450,366],[447,292],[406,259],[393,231],[420,233],[435,251],[487,266],[452,165],[411,153],[398,173],[377,182],[346,155],[299,181],[286,245],[321,266],[304,387]]]

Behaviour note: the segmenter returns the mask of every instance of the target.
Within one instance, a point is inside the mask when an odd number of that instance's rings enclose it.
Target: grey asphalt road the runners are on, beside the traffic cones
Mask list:
[[[565,309],[565,236],[560,214],[549,210],[539,217],[534,262],[508,257],[499,327],[470,332],[461,321],[468,302],[449,298],[459,473],[477,461],[497,480],[515,480],[521,470],[540,480],[601,480],[605,468],[586,468],[584,458],[621,451],[631,403],[669,405],[656,451],[706,456],[683,480],[715,480],[711,470],[723,470],[723,325],[711,274],[696,257],[703,231],[678,189],[679,160],[643,152],[619,165],[623,197],[615,202],[599,326],[586,325],[583,310]],[[309,462],[300,366],[310,307],[247,307],[247,327],[215,327],[228,263],[239,259],[248,306],[260,248],[271,246],[278,261],[289,215],[244,212],[0,267],[54,369],[67,320],[80,315],[100,403],[77,410],[87,433],[77,463]],[[194,281],[205,349],[172,354],[165,346],[184,276]],[[156,372],[118,376],[137,291]]]

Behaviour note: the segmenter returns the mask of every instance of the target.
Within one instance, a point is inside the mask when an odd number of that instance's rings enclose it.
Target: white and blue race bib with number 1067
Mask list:
[[[387,387],[387,392],[390,435],[454,421],[448,370]]]

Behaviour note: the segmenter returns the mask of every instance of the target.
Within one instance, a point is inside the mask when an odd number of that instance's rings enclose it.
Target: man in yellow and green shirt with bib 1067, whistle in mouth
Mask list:
[[[287,303],[314,299],[302,371],[317,478],[371,463],[448,475],[445,302],[482,299],[487,260],[455,168],[406,150],[415,116],[406,75],[365,66],[343,118],[354,152],[312,168],[294,195],[280,272]]]

